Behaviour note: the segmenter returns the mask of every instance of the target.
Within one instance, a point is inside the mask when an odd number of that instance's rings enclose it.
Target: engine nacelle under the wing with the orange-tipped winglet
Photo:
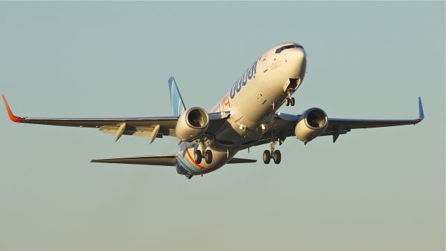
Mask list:
[[[192,107],[181,114],[176,123],[176,137],[183,142],[190,142],[203,135],[209,126],[209,115],[200,107]]]

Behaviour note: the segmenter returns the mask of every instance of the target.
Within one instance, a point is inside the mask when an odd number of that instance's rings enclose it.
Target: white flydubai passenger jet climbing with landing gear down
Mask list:
[[[287,137],[297,137],[307,144],[316,137],[339,135],[357,128],[379,128],[417,124],[424,119],[422,100],[418,98],[418,119],[332,119],[320,108],[306,109],[302,114],[277,112],[282,105],[294,106],[293,93],[305,77],[307,53],[298,43],[271,47],[250,64],[231,88],[206,112],[201,107],[186,108],[174,77],[169,78],[173,116],[115,119],[40,119],[18,117],[11,112],[2,95],[11,121],[52,126],[99,128],[114,134],[157,138],[178,138],[175,154],[130,158],[93,159],[91,162],[161,165],[176,167],[187,178],[208,174],[226,164],[250,163],[256,160],[234,158],[238,151],[269,144],[263,162],[272,159],[279,164],[282,155],[276,149]]]

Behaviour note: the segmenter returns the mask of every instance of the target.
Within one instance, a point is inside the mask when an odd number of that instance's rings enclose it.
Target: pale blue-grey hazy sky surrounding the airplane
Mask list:
[[[264,146],[188,181],[91,158],[174,153],[176,139],[15,124],[0,109],[0,250],[445,250],[445,3],[0,2],[0,91],[15,114],[170,115],[174,75],[205,109],[256,57],[308,52],[295,107],[412,119]]]

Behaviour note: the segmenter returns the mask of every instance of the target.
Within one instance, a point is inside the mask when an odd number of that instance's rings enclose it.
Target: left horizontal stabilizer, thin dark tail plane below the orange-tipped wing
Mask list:
[[[174,166],[176,163],[176,155],[169,154],[169,155],[141,156],[141,157],[130,157],[130,158],[105,158],[105,159],[90,160],[90,162]]]

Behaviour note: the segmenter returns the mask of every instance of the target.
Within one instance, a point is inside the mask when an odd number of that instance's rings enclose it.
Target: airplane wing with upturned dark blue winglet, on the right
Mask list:
[[[333,136],[333,143],[336,142],[339,135],[346,134],[352,129],[360,128],[380,128],[388,126],[415,125],[424,119],[423,106],[421,98],[418,98],[418,119],[333,119],[328,118],[328,127],[321,136]],[[274,119],[275,127],[272,129],[274,135],[283,142],[286,137],[295,136],[294,128],[300,115],[277,113]],[[266,133],[265,135],[271,135]],[[270,137],[265,137],[259,141],[259,144],[270,142]]]

